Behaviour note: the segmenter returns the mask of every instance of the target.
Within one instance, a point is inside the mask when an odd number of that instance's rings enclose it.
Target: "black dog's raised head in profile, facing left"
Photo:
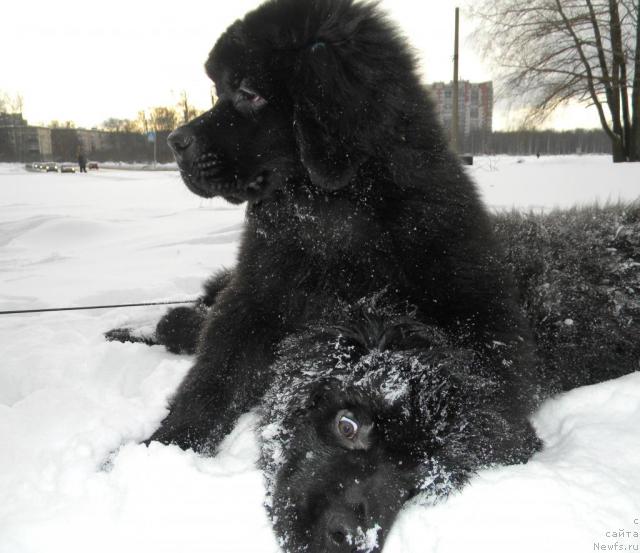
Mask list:
[[[218,101],[169,144],[193,192],[232,202],[345,187],[419,89],[404,41],[352,0],[271,0],[227,29],[205,67]]]

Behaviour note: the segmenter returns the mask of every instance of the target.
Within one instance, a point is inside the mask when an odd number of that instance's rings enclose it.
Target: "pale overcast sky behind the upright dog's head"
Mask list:
[[[24,96],[30,123],[97,126],[109,117],[173,105],[186,90],[210,105],[203,63],[218,35],[259,0],[9,0],[0,29],[0,91]],[[425,82],[451,80],[455,0],[382,0],[422,58]],[[461,78],[491,80],[467,38],[462,11]],[[597,126],[584,108],[552,122]],[[498,109],[495,126],[508,124]]]

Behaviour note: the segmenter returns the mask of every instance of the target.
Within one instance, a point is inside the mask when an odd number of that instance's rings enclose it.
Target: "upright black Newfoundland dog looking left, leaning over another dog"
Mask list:
[[[197,362],[151,439],[215,447],[270,386],[284,336],[335,298],[383,288],[459,336],[509,390],[505,410],[524,416],[534,362],[509,271],[407,45],[377,9],[268,2],[225,32],[206,69],[218,103],[170,143],[187,186],[247,201],[247,221]]]

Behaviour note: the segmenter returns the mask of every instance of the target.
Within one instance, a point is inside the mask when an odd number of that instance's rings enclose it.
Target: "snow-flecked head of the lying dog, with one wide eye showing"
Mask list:
[[[501,383],[439,329],[362,304],[287,340],[264,401],[262,462],[289,552],[377,553],[402,505],[537,448]]]

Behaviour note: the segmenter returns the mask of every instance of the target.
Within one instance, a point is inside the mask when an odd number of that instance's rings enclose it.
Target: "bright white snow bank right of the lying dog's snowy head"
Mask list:
[[[526,465],[483,471],[439,505],[408,506],[385,553],[638,547],[638,534],[609,536],[640,533],[640,373],[549,400],[533,421],[541,453]]]

